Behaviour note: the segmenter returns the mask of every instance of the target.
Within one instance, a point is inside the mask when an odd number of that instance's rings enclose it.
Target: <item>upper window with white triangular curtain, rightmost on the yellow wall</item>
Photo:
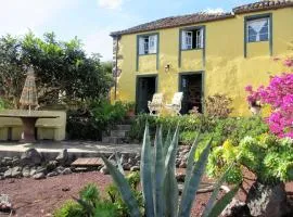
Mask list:
[[[269,18],[247,21],[246,33],[249,42],[269,40]]]

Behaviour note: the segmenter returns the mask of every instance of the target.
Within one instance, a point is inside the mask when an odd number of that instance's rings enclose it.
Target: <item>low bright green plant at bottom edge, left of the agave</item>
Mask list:
[[[54,217],[118,217],[118,210],[112,202],[100,197],[95,184],[89,183],[79,192],[76,202],[66,201],[54,212]]]

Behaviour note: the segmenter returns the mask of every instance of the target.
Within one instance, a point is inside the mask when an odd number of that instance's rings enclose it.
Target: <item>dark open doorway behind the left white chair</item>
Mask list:
[[[156,86],[156,75],[137,77],[137,113],[149,113],[148,101],[152,101]]]

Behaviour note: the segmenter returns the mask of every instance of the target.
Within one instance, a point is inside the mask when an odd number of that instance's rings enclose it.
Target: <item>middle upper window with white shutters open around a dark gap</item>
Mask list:
[[[203,28],[182,30],[181,49],[202,49],[203,48]]]

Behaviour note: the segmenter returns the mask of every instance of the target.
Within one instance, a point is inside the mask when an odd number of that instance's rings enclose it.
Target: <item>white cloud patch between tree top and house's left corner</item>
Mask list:
[[[111,61],[113,58],[113,41],[110,36],[111,28],[100,29],[84,38],[85,49],[88,54],[100,53],[102,61]]]

